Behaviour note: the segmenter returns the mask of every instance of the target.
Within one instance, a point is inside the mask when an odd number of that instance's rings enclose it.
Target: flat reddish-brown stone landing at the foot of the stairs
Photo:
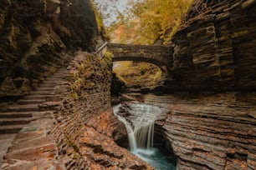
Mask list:
[[[2,169],[64,169],[56,159],[58,150],[49,132],[54,120],[49,117],[29,123],[14,138],[11,148],[4,156]]]

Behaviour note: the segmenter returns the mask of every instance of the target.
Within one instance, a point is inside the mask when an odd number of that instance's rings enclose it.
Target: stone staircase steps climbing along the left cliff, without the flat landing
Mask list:
[[[48,111],[59,107],[61,93],[66,88],[60,87],[67,69],[59,68],[51,77],[42,82],[33,92],[13,104],[0,108],[0,167],[3,156],[13,142],[16,134],[29,122],[47,115]]]

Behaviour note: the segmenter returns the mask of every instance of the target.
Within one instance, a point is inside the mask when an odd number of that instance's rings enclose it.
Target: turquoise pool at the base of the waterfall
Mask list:
[[[156,170],[176,170],[175,163],[172,163],[174,158],[163,153],[159,148],[136,149],[132,153],[150,163]]]

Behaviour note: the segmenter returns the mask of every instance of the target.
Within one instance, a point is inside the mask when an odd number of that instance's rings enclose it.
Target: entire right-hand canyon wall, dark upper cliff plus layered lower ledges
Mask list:
[[[255,10],[255,0],[195,1],[172,39],[174,92],[146,102],[170,110],[156,124],[178,169],[256,168]]]

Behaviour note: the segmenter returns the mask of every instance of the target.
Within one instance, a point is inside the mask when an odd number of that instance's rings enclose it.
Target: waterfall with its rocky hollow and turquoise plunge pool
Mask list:
[[[165,109],[141,102],[122,102],[113,110],[125,125],[125,131],[113,131],[115,143],[150,163],[156,170],[176,169],[177,159],[172,147],[168,146],[164,129],[156,125],[157,118],[166,112]]]

